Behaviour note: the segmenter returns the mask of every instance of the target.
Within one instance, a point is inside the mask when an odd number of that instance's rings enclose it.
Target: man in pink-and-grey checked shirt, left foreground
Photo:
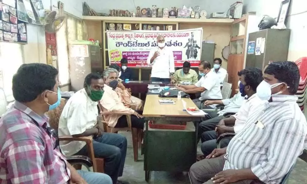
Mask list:
[[[23,64],[13,77],[15,104],[0,119],[0,184],[111,184],[107,174],[76,171],[61,154],[45,113],[60,104],[58,71]]]

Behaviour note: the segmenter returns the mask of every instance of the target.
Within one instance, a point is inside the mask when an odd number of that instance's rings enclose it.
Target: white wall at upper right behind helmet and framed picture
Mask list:
[[[281,2],[282,0],[245,0],[244,6],[246,12],[256,11],[260,21],[263,15],[278,17]],[[286,26],[291,29],[288,60],[295,61],[307,56],[307,0],[292,0],[288,15]]]

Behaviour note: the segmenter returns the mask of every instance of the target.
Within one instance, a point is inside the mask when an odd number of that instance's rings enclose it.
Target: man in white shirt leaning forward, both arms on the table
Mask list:
[[[200,98],[194,99],[193,102],[198,108],[207,99],[222,99],[220,82],[217,75],[211,71],[211,65],[207,61],[200,62],[198,66],[199,75],[202,76],[195,85],[178,85],[178,89],[185,93],[201,93]]]

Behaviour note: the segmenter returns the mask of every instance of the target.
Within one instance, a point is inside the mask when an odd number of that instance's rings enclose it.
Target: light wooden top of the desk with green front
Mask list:
[[[159,103],[161,99],[173,99],[176,104],[163,104]],[[187,103],[187,107],[196,107],[194,102],[190,98],[181,98]],[[144,117],[204,117],[190,115],[186,111],[183,111],[183,104],[181,100],[177,98],[160,98],[157,94],[148,94],[143,110]],[[196,107],[197,108],[197,107]],[[198,109],[198,108],[197,108]]]

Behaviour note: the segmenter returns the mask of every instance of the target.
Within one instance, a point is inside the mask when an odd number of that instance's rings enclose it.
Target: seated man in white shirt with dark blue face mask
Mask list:
[[[260,69],[251,68],[244,69],[240,73],[240,92],[247,99],[243,102],[239,111],[231,117],[222,119],[218,125],[216,125],[215,130],[206,131],[201,134],[201,151],[204,157],[208,156],[216,147],[216,139],[223,133],[239,133],[247,121],[249,112],[252,112],[258,105],[262,103],[260,98],[256,95],[257,86],[263,80],[262,72]],[[209,121],[209,120],[208,120]],[[204,121],[200,126],[204,129],[208,129],[209,123]],[[231,137],[226,137],[220,142],[220,147],[224,148],[228,145]]]

